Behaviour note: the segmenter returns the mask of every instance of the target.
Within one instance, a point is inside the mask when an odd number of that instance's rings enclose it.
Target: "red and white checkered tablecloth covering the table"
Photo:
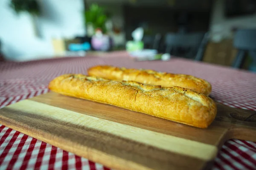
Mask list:
[[[191,74],[207,79],[212,84],[211,96],[218,102],[230,107],[256,111],[254,73],[177,58],[166,62],[135,62],[124,52],[109,53],[106,57],[87,56],[0,63],[0,108],[47,93],[49,81],[58,75],[87,74],[87,68],[99,64]],[[0,125],[0,169],[109,168]],[[256,142],[236,139],[227,141],[219,151],[212,169],[256,170]]]

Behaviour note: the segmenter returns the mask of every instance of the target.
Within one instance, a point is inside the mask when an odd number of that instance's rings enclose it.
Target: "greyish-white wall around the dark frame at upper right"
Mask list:
[[[232,38],[232,28],[256,28],[256,14],[227,19],[224,16],[224,0],[215,0],[212,10],[210,31],[212,40]]]

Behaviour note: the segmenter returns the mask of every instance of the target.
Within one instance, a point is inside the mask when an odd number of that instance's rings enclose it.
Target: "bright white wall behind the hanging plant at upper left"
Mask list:
[[[83,0],[40,0],[43,14],[37,23],[41,37],[36,37],[30,15],[17,16],[9,2],[0,0],[0,40],[9,60],[52,57],[52,38],[85,34]]]

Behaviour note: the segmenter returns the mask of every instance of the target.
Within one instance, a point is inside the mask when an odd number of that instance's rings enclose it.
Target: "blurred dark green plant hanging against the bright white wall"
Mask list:
[[[38,36],[38,28],[36,24],[37,17],[41,14],[40,7],[37,0],[11,0],[10,7],[20,14],[26,12],[32,17],[32,24],[34,26],[35,34]]]

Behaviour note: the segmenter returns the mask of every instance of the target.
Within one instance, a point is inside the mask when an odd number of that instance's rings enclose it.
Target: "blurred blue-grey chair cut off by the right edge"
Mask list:
[[[256,62],[256,29],[240,29],[236,31],[233,46],[238,49],[233,61],[233,68],[241,68],[248,52]]]

